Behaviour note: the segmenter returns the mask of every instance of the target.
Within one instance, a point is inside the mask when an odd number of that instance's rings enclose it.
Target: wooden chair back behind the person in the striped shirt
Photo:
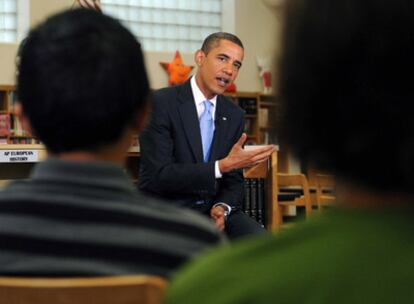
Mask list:
[[[157,276],[0,277],[7,304],[160,304],[167,281]]]

